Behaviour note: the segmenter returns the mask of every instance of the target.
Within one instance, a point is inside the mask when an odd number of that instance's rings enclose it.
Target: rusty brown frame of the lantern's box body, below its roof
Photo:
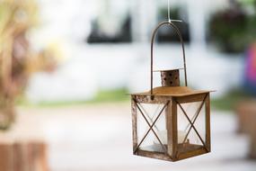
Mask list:
[[[147,94],[132,94],[132,126],[133,126],[133,153],[137,156],[142,157],[152,157],[156,159],[162,159],[162,160],[168,160],[168,161],[178,161],[181,159],[185,159],[188,157],[195,157],[202,154],[206,154],[210,152],[210,103],[209,103],[209,93],[204,94],[190,94],[185,96],[164,96],[164,95],[154,95],[154,99],[151,98],[151,95]],[[181,103],[194,103],[194,102],[202,102],[197,115],[199,115],[199,112],[201,110],[205,110],[206,114],[206,139],[205,141],[201,139],[199,133],[199,139],[202,140],[203,146],[191,146],[190,150],[185,150],[181,147],[181,144],[178,144],[178,116],[177,116],[177,108],[181,105]],[[166,118],[166,129],[167,129],[167,144],[164,152],[152,152],[152,151],[146,151],[142,150],[140,148],[140,145],[142,141],[146,138],[146,136],[141,140],[137,138],[137,114],[144,113],[139,109],[138,103],[152,103],[152,104],[163,104],[163,109],[158,114],[156,120],[158,117],[163,114],[163,111],[165,112],[165,118]],[[205,105],[203,105],[205,104]],[[205,106],[204,108],[202,108]],[[186,112],[183,111],[185,115]],[[181,113],[179,113],[181,114]],[[188,119],[188,118],[187,118]],[[155,120],[155,121],[156,121]],[[194,126],[195,121],[190,121],[190,130],[194,129],[196,132],[196,128]],[[147,125],[149,126],[149,131],[153,131],[154,123],[150,124],[147,122]],[[189,132],[190,133],[190,132]],[[158,135],[156,132],[154,132],[155,137],[158,138]],[[187,135],[188,136],[188,135]],[[162,147],[165,147],[161,140],[159,140]]]

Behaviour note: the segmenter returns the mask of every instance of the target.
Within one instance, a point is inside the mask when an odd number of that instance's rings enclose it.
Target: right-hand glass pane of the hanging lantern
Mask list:
[[[206,142],[206,110],[202,102],[178,105],[178,150],[202,148]],[[200,110],[200,111],[199,111]]]

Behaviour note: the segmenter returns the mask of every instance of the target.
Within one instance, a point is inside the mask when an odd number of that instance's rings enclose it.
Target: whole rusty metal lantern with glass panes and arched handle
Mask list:
[[[185,86],[180,70],[160,70],[162,86],[153,87],[154,37],[163,25],[181,40]],[[131,94],[133,152],[142,157],[178,161],[210,152],[210,91],[187,85],[186,58],[181,32],[172,22],[160,23],[151,41],[151,89]]]

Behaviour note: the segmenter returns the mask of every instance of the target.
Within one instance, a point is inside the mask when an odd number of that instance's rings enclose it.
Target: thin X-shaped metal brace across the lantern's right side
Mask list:
[[[188,114],[185,112],[185,110],[182,108],[181,103],[179,103],[179,102],[177,102],[177,101],[175,101],[175,102],[181,107],[181,111],[184,113],[184,115],[186,116],[187,120],[190,122],[190,129],[189,129],[188,133],[186,134],[185,139],[183,139],[183,142],[182,142],[182,143],[184,143],[184,142],[186,141],[186,139],[188,138],[188,136],[189,136],[189,134],[190,134],[190,131],[193,129],[193,130],[195,130],[195,132],[196,132],[197,135],[199,136],[199,139],[200,139],[200,141],[202,142],[202,144],[204,145],[204,148],[206,148],[207,151],[209,151],[208,148],[207,148],[207,146],[206,146],[206,143],[204,142],[204,140],[203,140],[203,139],[201,138],[201,136],[199,135],[199,131],[198,131],[198,130],[195,128],[195,126],[194,126],[195,122],[197,121],[197,119],[198,119],[198,117],[199,117],[199,113],[200,113],[200,111],[201,111],[201,109],[202,109],[202,107],[203,107],[203,105],[204,105],[204,103],[205,103],[205,101],[206,101],[206,98],[207,98],[207,94],[206,94],[206,96],[204,97],[204,100],[202,101],[202,103],[200,104],[199,109],[198,109],[198,111],[197,111],[196,114],[195,114],[196,117],[194,118],[193,121],[190,121],[190,117],[189,117]]]

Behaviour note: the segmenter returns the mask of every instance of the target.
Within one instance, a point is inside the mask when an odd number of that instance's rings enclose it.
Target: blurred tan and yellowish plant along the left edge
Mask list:
[[[13,103],[42,53],[31,50],[27,33],[38,22],[35,0],[0,0],[0,129],[14,121]],[[31,69],[33,68],[33,69]]]

